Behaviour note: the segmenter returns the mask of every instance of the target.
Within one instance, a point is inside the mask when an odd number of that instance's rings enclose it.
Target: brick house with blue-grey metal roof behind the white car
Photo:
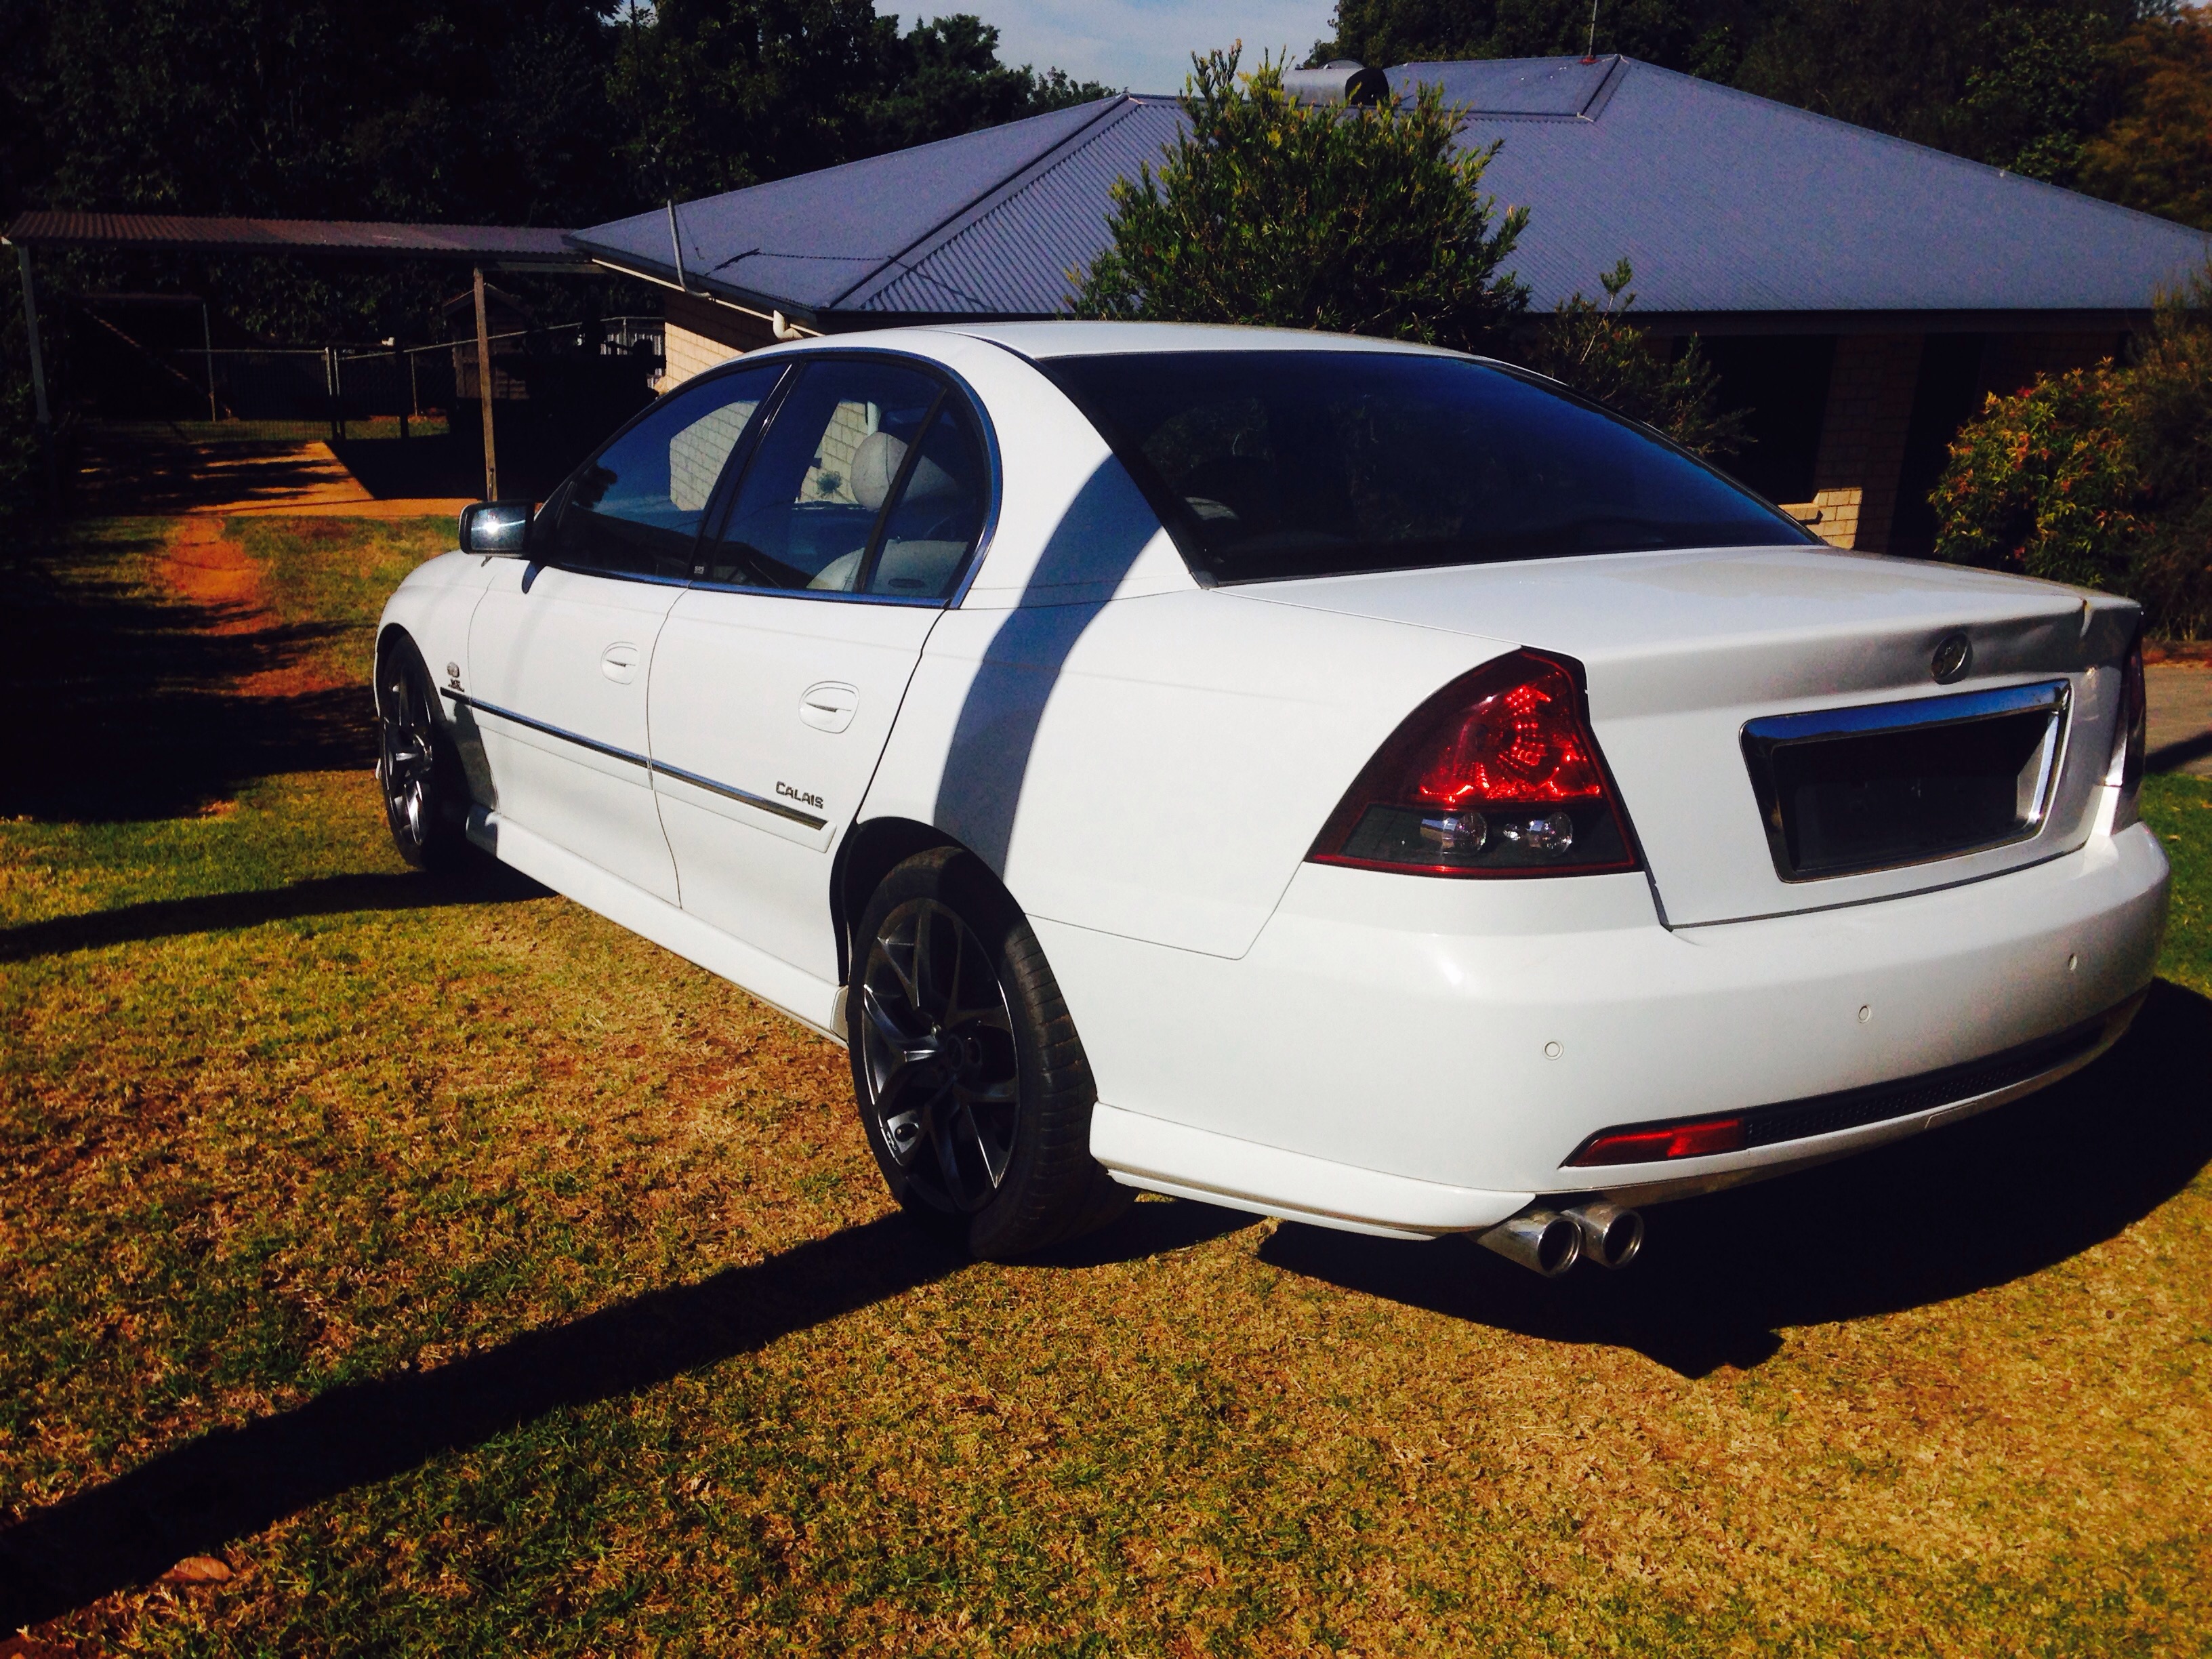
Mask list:
[[[1924,553],[1927,493],[1989,392],[2095,363],[2205,265],[2199,230],[1630,58],[1402,64],[1484,190],[1526,206],[1535,310],[1635,265],[1637,319],[1690,336],[1752,411],[1730,465],[1840,546]],[[792,332],[1035,319],[1106,246],[1108,190],[1181,131],[1119,95],[568,234],[675,290],[681,376]]]

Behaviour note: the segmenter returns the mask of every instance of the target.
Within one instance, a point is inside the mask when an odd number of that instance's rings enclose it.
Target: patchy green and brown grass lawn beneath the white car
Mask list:
[[[0,573],[15,1652],[2212,1644],[2212,787],[2121,1051],[1635,1272],[1168,1201],[973,1265],[836,1048],[387,849],[369,628],[445,535]]]

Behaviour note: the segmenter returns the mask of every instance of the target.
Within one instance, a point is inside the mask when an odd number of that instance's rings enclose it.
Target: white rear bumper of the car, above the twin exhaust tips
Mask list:
[[[2042,1088],[2126,1029],[2166,894],[2166,856],[2132,825],[1960,887],[1672,931],[1644,876],[1447,883],[1323,865],[1301,867],[1234,962],[1035,925],[1108,1102],[1093,1130],[1108,1168],[1429,1234],[1489,1225],[1509,1199],[1504,1212],[1540,1194],[1648,1203],[1730,1186]],[[2015,1051],[2011,1071],[1971,1071]],[[1608,1128],[1863,1104],[1916,1079],[1933,1093],[1900,1093],[1871,1119],[1845,1110],[1840,1128],[1805,1119],[1816,1133],[1739,1152],[1566,1168]]]

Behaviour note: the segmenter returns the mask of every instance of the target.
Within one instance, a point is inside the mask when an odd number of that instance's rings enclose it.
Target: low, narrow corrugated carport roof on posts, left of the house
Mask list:
[[[566,230],[409,226],[361,219],[199,219],[170,212],[24,212],[7,239],[29,248],[104,246],[226,254],[387,254],[487,265],[577,268]]]

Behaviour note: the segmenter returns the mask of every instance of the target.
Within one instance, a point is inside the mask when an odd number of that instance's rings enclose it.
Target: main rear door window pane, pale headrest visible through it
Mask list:
[[[896,363],[807,363],[763,434],[708,580],[852,593],[938,383]]]

